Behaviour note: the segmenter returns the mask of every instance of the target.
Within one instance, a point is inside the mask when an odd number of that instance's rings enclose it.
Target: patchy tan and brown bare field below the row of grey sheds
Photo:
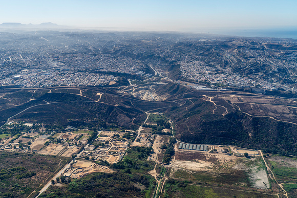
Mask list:
[[[226,153],[177,150],[168,168],[171,168],[171,177],[209,180],[215,183],[224,183],[224,180],[228,179],[228,183],[232,185],[269,188],[265,166],[260,157],[246,159]],[[229,179],[230,175],[233,175],[233,178]]]

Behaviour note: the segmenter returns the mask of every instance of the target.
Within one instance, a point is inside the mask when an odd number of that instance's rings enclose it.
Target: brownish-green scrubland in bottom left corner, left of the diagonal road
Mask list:
[[[0,193],[3,197],[27,197],[69,158],[0,152]]]

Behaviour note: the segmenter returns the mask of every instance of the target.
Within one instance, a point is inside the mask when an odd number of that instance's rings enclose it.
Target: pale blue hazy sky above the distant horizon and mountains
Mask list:
[[[1,0],[0,24],[133,30],[297,27],[297,0]]]

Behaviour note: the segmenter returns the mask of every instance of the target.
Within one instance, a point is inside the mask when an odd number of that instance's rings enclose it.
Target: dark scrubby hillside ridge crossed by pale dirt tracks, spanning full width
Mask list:
[[[0,122],[23,120],[74,127],[136,130],[146,113],[163,112],[187,143],[237,145],[297,155],[293,99],[245,92],[197,91],[156,85],[164,101],[145,101],[108,89],[62,87],[14,90],[0,98]],[[19,113],[19,114],[18,114]]]

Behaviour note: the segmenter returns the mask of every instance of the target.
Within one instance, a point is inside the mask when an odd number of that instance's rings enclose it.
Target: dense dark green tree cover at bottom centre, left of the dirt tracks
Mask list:
[[[155,163],[146,161],[152,148],[132,147],[124,159],[110,165],[114,173],[92,173],[68,185],[51,186],[41,197],[151,197],[155,179],[147,174]],[[108,164],[107,164],[108,165]]]

